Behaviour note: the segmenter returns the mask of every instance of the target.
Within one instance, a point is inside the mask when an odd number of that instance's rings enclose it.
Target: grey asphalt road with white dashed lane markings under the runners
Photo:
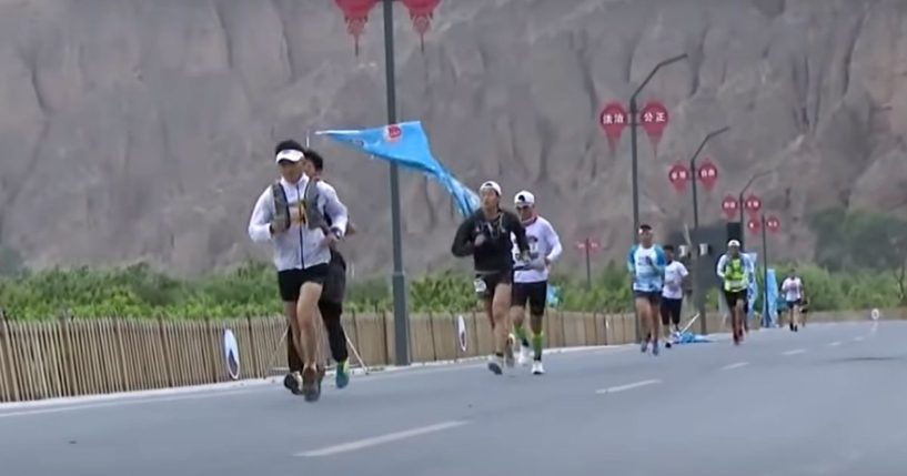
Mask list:
[[[552,355],[544,376],[373,374],[315,404],[275,384],[0,407],[0,474],[904,474],[907,323],[720,338]]]

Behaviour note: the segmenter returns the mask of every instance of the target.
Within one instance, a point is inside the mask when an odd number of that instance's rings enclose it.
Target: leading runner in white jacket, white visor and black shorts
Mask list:
[[[290,324],[304,367],[295,377],[305,399],[314,402],[321,396],[315,306],[327,276],[331,245],[346,233],[346,206],[332,186],[305,176],[298,142],[284,141],[276,149],[279,186],[271,185],[259,196],[249,220],[249,236],[273,247],[284,308],[296,307],[296,322]],[[325,213],[332,219],[330,227]]]

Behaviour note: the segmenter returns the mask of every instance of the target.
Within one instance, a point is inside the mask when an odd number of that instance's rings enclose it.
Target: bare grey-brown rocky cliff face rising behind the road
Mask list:
[[[395,19],[401,120],[465,183],[535,192],[570,249],[629,244],[629,138],[609,154],[597,114],[683,52],[641,97],[671,111],[658,156],[639,138],[643,220],[692,221],[667,169],[724,125],[704,222],[766,169],[752,190],[788,256],[810,250],[809,211],[907,214],[905,1],[446,0],[424,53],[402,4]],[[329,0],[0,0],[0,242],[37,266],[266,257],[245,225],[273,143],[385,122],[381,34],[379,7],[354,57]],[[313,145],[364,231],[356,270],[386,270],[386,166]],[[450,265],[449,199],[402,183],[409,271]]]

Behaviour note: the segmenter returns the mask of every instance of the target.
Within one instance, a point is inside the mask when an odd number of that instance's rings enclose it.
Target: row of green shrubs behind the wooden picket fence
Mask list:
[[[777,266],[783,278],[788,265]],[[816,266],[799,266],[813,310],[854,310],[898,305],[898,286],[891,273],[829,272]],[[758,272],[762,281],[762,271]],[[582,312],[629,312],[629,278],[623,266],[604,266],[591,286],[584,278],[552,276],[558,288],[560,307]],[[444,272],[419,276],[410,282],[409,307],[412,312],[478,310],[472,288],[472,275]],[[718,293],[707,295],[709,308],[717,305]],[[760,301],[760,300],[759,300]],[[347,310],[391,311],[390,280],[351,280]],[[757,307],[760,303],[757,302]],[[10,318],[41,320],[69,314],[78,317],[164,317],[219,318],[276,315],[281,312],[273,269],[268,264],[246,264],[229,273],[195,278],[177,278],[145,265],[100,270],[24,271],[0,277],[0,308]]]

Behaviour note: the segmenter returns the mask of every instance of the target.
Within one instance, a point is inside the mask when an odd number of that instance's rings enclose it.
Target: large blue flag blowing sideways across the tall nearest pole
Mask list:
[[[404,169],[422,172],[451,194],[460,213],[467,216],[478,209],[478,195],[464,186],[432,155],[422,122],[401,122],[361,130],[318,131],[334,141],[373,158],[395,162]]]

